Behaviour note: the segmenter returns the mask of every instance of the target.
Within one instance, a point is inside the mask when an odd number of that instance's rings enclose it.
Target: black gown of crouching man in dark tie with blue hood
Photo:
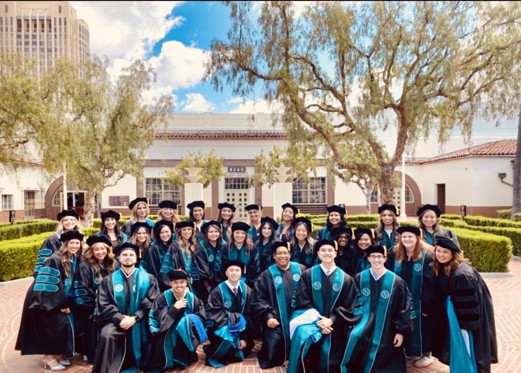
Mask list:
[[[222,326],[228,325],[229,317],[232,317],[234,320],[237,320],[239,318],[239,300],[241,293],[238,293],[237,296],[234,296],[230,288],[228,288],[228,286],[226,286],[226,291],[229,291],[231,294],[231,309],[233,312],[228,313],[225,310],[225,306],[222,301],[222,295],[219,289],[215,289],[214,291],[212,291],[210,293],[210,296],[208,297],[208,316],[210,318],[210,321],[213,322],[214,326],[208,328],[208,339],[210,341],[210,344],[206,344],[203,346],[203,350],[206,354],[207,359],[209,356],[212,356],[217,351],[222,341],[222,339],[218,337],[214,333],[214,331]],[[253,350],[253,347],[255,347],[255,342],[253,342],[251,334],[252,318],[250,317],[250,314],[247,312],[247,310],[250,307],[251,297],[252,290],[248,285],[246,285],[246,304],[244,305],[244,314],[242,314],[242,316],[246,319],[246,329],[241,333],[241,339],[246,341],[246,347],[244,347],[244,349],[242,350],[244,358],[250,355],[250,353]],[[237,351],[232,351],[232,349],[228,351],[228,353],[226,354],[228,362],[233,362],[237,360],[240,361],[240,359],[238,359],[237,356],[235,356],[236,353]]]

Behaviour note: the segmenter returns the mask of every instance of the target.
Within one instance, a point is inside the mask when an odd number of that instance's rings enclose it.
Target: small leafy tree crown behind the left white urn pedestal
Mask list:
[[[172,187],[182,187],[184,183],[189,182],[183,176],[186,168],[199,167],[202,168],[200,171],[201,178],[198,182],[203,184],[206,188],[214,180],[219,180],[225,175],[222,170],[222,161],[225,157],[218,157],[215,155],[215,150],[208,154],[202,154],[201,151],[188,152],[187,155],[181,157],[181,163],[176,166],[173,170],[165,170],[166,178],[164,182],[168,183]]]

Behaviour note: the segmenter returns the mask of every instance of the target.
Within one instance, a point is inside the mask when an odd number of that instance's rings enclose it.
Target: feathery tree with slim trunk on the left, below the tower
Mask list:
[[[106,59],[92,57],[79,67],[61,61],[54,115],[60,121],[53,139],[39,141],[44,167],[86,189],[84,220],[92,226],[102,191],[126,175],[139,176],[145,151],[173,107],[171,95],[150,105],[143,93],[155,81],[153,69],[136,60],[112,82]]]

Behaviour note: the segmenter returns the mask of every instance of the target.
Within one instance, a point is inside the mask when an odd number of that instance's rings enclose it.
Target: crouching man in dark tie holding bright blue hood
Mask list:
[[[244,263],[226,263],[228,280],[221,282],[208,297],[208,315],[214,328],[208,330],[210,344],[203,347],[206,365],[220,368],[230,362],[242,362],[250,355],[255,343],[251,337],[249,308],[251,289],[240,281]]]

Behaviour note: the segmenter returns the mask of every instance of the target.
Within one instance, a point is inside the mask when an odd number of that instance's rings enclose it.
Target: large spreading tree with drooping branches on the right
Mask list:
[[[441,144],[455,129],[469,139],[483,97],[510,74],[505,55],[521,43],[516,2],[317,2],[300,17],[292,2],[264,2],[258,13],[252,2],[225,4],[232,27],[227,41],[213,41],[204,79],[240,96],[261,86],[285,108],[288,138],[316,134],[340,172],[375,159],[387,203],[406,147],[413,153],[434,131]],[[391,148],[378,139],[388,129]],[[353,141],[373,154],[369,163],[345,145]]]

